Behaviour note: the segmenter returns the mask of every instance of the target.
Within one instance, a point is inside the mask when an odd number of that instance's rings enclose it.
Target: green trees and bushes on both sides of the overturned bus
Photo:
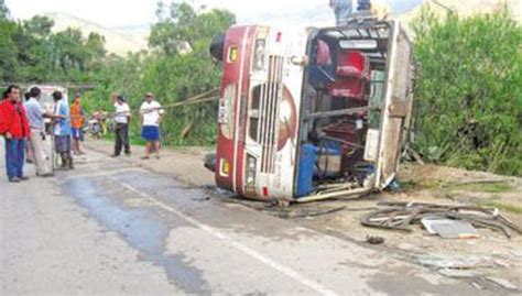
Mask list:
[[[160,2],[149,50],[120,57],[107,54],[96,33],[52,33],[53,21],[42,17],[12,21],[0,1],[0,80],[95,84],[85,94],[88,111],[111,111],[115,92],[126,95],[135,110],[146,91],[167,105],[216,88],[220,70],[208,45],[235,23],[227,11]],[[437,20],[426,11],[414,29],[416,150],[435,163],[522,175],[520,25],[507,14]],[[171,109],[164,140],[211,144],[215,117],[215,103]],[[131,135],[138,134],[134,120]]]

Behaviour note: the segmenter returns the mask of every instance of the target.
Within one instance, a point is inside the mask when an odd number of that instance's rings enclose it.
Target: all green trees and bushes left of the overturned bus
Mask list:
[[[87,111],[112,111],[112,94],[124,95],[137,110],[145,92],[162,105],[183,101],[214,89],[220,68],[208,52],[214,36],[235,23],[224,10],[197,13],[186,3],[159,2],[157,22],[152,25],[149,50],[126,57],[107,54],[105,39],[96,33],[86,39],[76,29],[53,33],[45,17],[15,22],[0,2],[0,80],[31,83],[89,83],[96,88],[84,94]],[[166,144],[209,144],[216,138],[216,103],[168,109],[162,124]],[[138,121],[131,138],[139,141]]]

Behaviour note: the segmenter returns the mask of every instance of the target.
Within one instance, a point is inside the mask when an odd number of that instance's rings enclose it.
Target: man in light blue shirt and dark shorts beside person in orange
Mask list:
[[[54,106],[54,143],[56,153],[62,157],[62,168],[73,169],[70,153],[70,118],[67,100],[61,91],[53,92]]]

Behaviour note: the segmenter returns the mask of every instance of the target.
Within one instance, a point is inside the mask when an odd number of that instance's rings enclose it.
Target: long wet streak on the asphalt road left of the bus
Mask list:
[[[167,254],[165,241],[171,229],[159,209],[129,207],[104,190],[95,178],[69,179],[64,191],[86,208],[104,228],[117,232],[142,257],[164,268],[168,279],[187,294],[209,295],[200,270],[187,264],[183,254]]]

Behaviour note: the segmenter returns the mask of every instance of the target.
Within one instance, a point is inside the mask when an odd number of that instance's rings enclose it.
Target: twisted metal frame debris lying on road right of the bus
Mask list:
[[[361,223],[367,227],[412,231],[425,218],[465,221],[476,228],[489,228],[511,238],[511,232],[522,234],[522,229],[502,216],[497,208],[478,206],[448,206],[424,202],[379,202],[387,208],[365,215]],[[455,229],[444,230],[445,233]],[[464,230],[464,229],[460,229]],[[458,231],[457,231],[458,233]],[[458,235],[457,235],[458,237]]]

